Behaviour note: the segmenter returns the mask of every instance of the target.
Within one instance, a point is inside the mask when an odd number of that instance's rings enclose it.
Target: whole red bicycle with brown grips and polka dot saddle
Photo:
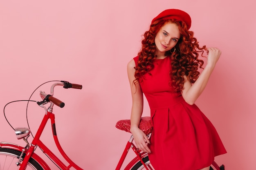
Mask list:
[[[57,105],[59,107],[64,107],[64,103],[61,102],[59,99],[53,97],[54,94],[54,87],[55,86],[63,86],[64,88],[77,88],[81,89],[82,86],[79,84],[71,84],[66,81],[60,81],[61,83],[55,83],[51,86],[51,93],[47,95],[45,92],[40,91],[40,97],[43,99],[41,102],[36,102],[40,107],[45,109],[45,115],[43,120],[36,132],[34,139],[32,140],[31,144],[28,142],[28,137],[30,134],[29,128],[13,128],[16,133],[16,137],[18,139],[23,139],[26,142],[26,146],[22,147],[16,144],[12,144],[9,142],[1,142],[0,143],[0,170],[51,170],[47,163],[39,157],[34,151],[36,150],[37,146],[43,150],[43,152],[49,157],[55,165],[61,170],[83,170],[79,166],[77,166],[63,151],[61,145],[58,141],[56,127],[55,127],[55,117],[52,113],[53,106]],[[40,87],[40,86],[39,86]],[[34,92],[33,92],[34,93]],[[30,98],[29,98],[30,99]],[[26,100],[31,101],[31,100]],[[13,101],[17,102],[17,101]],[[12,103],[12,102],[9,102]],[[8,104],[9,104],[8,103]],[[45,104],[50,103],[48,108],[45,107]],[[8,105],[7,104],[7,105]],[[5,105],[5,106],[7,106]],[[4,108],[5,108],[4,106]],[[54,137],[54,142],[61,153],[61,155],[65,158],[68,165],[66,166],[54,153],[40,141],[40,136],[45,128],[47,121],[50,119],[52,125],[52,135]],[[7,120],[9,123],[9,121]],[[11,125],[10,125],[11,126]],[[12,127],[12,126],[11,126]],[[116,127],[130,132],[130,120],[120,120],[117,122]],[[147,135],[150,135],[152,132],[152,126],[150,123],[150,117],[142,117],[139,127],[143,130]],[[121,170],[121,166],[124,163],[126,155],[130,148],[135,152],[136,157],[128,163],[124,170],[154,170],[151,166],[150,161],[148,159],[148,154],[141,152],[138,150],[136,146],[132,143],[133,137],[131,136],[129,141],[126,144],[124,152],[119,160],[119,163],[115,170]],[[214,161],[211,166],[211,170],[224,170],[224,166],[218,166]]]

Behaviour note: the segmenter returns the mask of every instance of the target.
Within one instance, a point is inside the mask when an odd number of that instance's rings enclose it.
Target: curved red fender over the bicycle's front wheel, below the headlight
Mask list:
[[[22,146],[19,146],[19,145],[16,145],[16,144],[12,144],[12,143],[9,143],[9,142],[1,142],[0,143],[0,147],[1,148],[14,149],[14,150],[18,150],[20,152],[22,152],[22,149],[25,149]],[[24,153],[27,154],[27,149],[25,149]],[[51,170],[49,168],[49,166],[45,163],[45,161],[42,158],[40,158],[36,153],[33,152],[31,157],[33,159],[35,159],[40,164],[40,166],[42,166],[45,170]]]

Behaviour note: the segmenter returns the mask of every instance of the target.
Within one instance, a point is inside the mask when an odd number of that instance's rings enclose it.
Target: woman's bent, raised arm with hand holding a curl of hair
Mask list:
[[[195,81],[193,86],[191,85],[191,82],[189,82],[187,77],[184,76],[185,81],[184,88],[182,90],[182,97],[188,104],[191,105],[195,103],[196,99],[198,99],[198,97],[204,91],[204,88],[208,83],[210,75],[213,72],[213,69],[221,55],[221,51],[218,48],[211,47],[207,49],[207,51],[207,65],[205,66],[204,70],[202,71],[198,79]]]

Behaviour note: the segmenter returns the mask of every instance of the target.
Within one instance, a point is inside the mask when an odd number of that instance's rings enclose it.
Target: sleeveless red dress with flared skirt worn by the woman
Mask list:
[[[134,58],[136,66],[138,57]],[[140,83],[150,106],[153,132],[149,160],[155,170],[199,170],[226,153],[209,119],[170,87],[171,59],[155,60]]]

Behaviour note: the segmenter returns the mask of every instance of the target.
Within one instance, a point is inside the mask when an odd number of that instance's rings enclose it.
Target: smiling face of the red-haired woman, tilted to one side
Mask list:
[[[162,26],[155,36],[156,55],[163,55],[172,49],[180,39],[180,31],[176,24],[168,22]]]

